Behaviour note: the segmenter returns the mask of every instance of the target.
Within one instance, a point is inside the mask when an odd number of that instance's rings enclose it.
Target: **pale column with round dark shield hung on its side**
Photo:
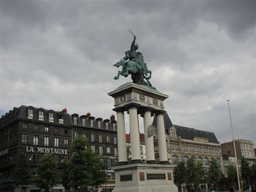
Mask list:
[[[145,133],[145,146],[146,146],[146,162],[155,163],[155,152],[154,152],[154,138],[153,136],[149,137],[148,135],[148,126],[152,125],[151,123],[151,112],[144,112],[144,133]]]

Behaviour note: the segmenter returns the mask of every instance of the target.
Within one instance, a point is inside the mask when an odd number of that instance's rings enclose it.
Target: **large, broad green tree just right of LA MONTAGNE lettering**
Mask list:
[[[70,152],[73,155],[66,163],[68,186],[87,188],[87,186],[100,185],[106,181],[100,158],[90,148],[86,148],[86,144],[86,139],[80,135],[76,136],[70,146]]]

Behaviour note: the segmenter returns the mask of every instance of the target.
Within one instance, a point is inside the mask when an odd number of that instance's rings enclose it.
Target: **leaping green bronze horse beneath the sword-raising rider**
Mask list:
[[[121,59],[119,62],[116,62],[114,66],[122,66],[122,71],[118,71],[118,75],[115,76],[114,79],[119,79],[120,75],[128,77],[128,75],[131,74],[133,83],[150,85],[150,87],[152,87],[152,84],[149,82],[152,72],[148,70],[146,64],[142,66],[142,64],[138,64],[138,62],[132,60],[126,61],[124,59]],[[147,82],[145,82],[144,79],[146,79]]]

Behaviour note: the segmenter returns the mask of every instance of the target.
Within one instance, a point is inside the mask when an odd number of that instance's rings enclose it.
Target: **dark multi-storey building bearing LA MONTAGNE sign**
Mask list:
[[[12,183],[11,174],[19,148],[27,151],[32,169],[37,166],[38,160],[44,154],[51,153],[61,172],[71,155],[69,146],[80,134],[87,138],[88,147],[100,156],[108,177],[104,189],[111,191],[115,184],[111,167],[118,156],[114,116],[111,116],[110,120],[103,120],[94,118],[90,113],[82,116],[70,115],[66,109],[57,112],[33,106],[14,107],[0,118],[0,173],[2,175],[0,191],[15,192],[17,190]],[[98,191],[102,191],[102,188],[103,186],[99,186]],[[36,192],[38,188],[35,186],[23,188],[26,192],[33,190]],[[61,184],[52,188],[52,191],[64,190]]]

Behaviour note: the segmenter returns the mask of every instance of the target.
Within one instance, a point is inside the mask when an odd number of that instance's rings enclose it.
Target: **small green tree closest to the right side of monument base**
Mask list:
[[[174,184],[176,186],[181,186],[182,183],[185,182],[185,175],[186,175],[186,166],[183,161],[178,162],[177,166],[174,168]],[[181,189],[180,189],[181,191]]]

